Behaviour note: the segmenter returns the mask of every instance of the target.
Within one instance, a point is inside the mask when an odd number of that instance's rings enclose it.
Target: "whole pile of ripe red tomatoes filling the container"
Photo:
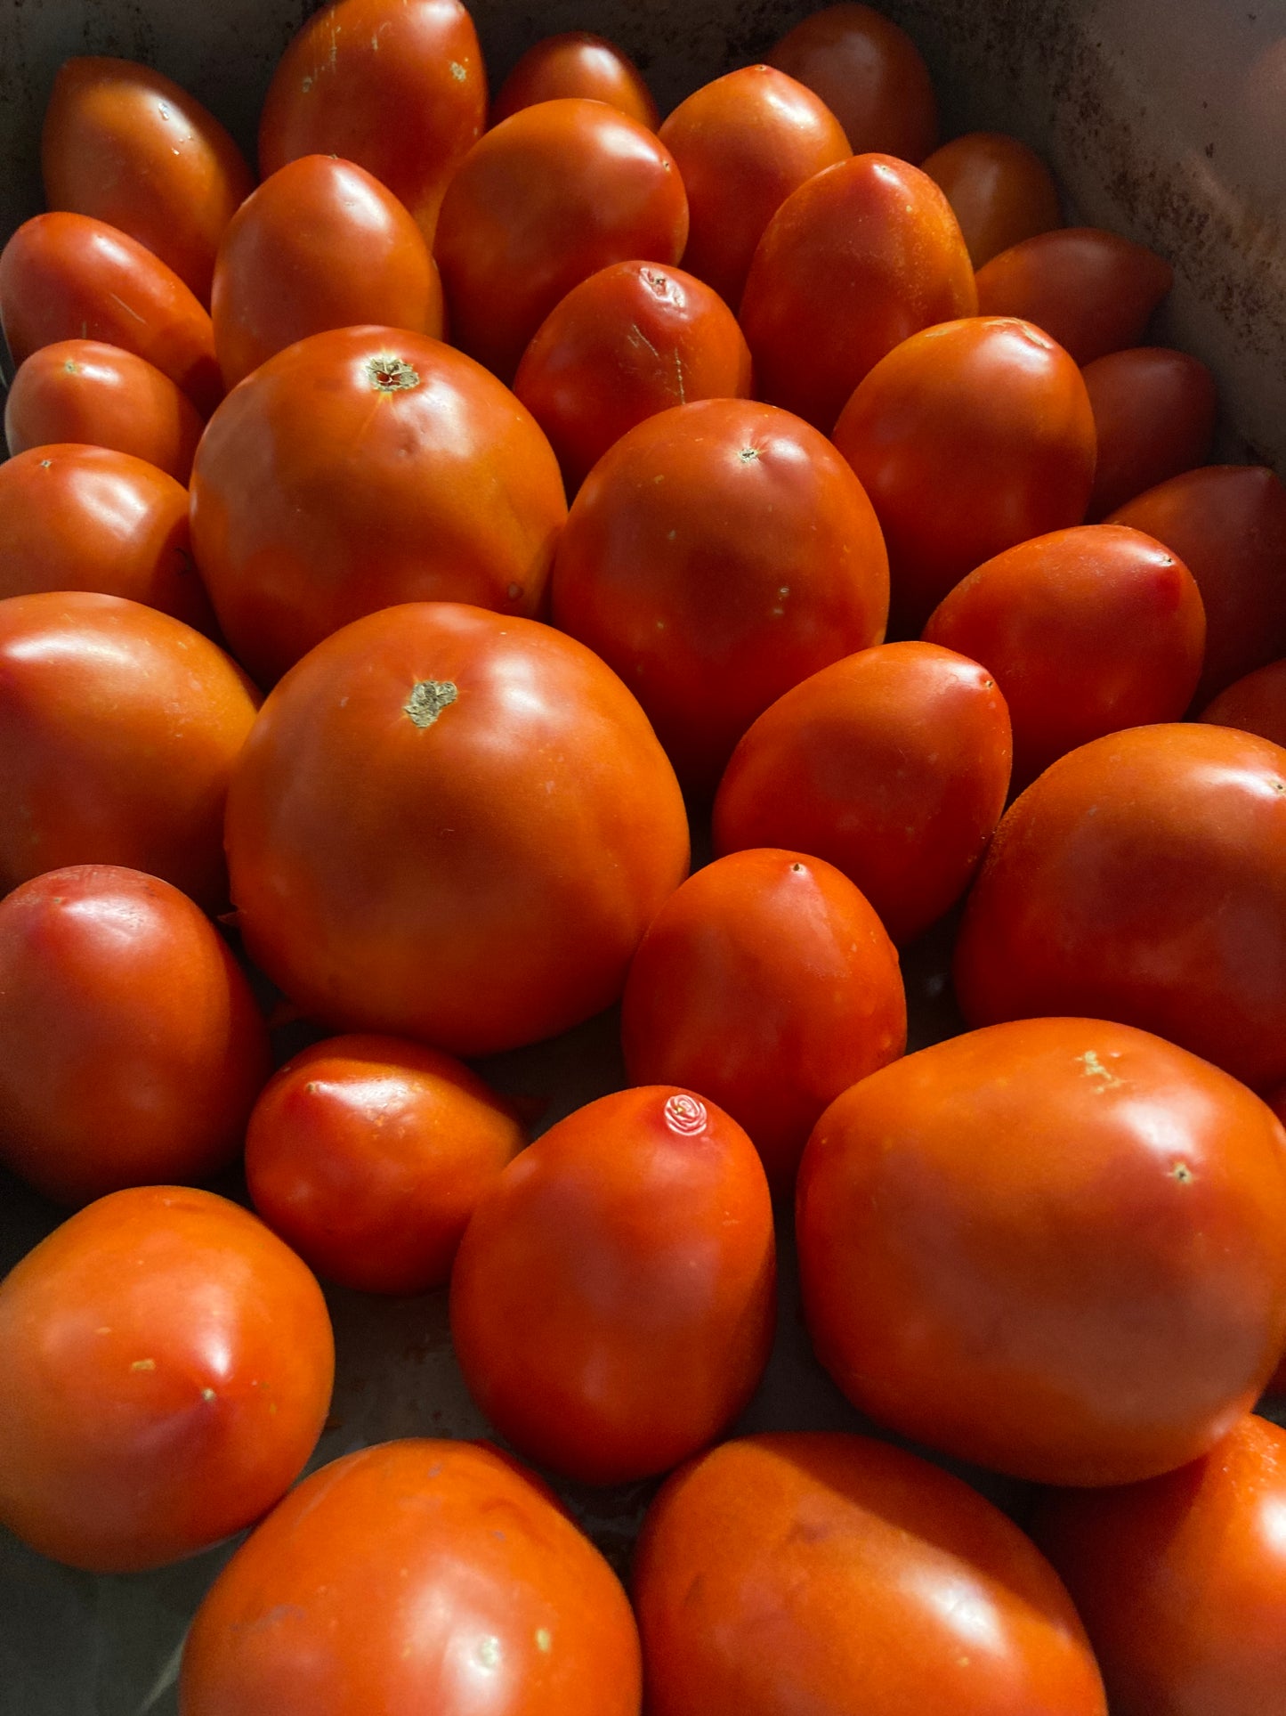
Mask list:
[[[458,0],[338,0],[257,185],[58,74],[0,1162],[74,1213],[0,1285],[0,1520],[254,1527],[185,1716],[1286,1709],[1286,491],[1202,463],[1161,257],[936,142],[850,3],[658,124],[598,38],[489,106]],[[907,1054],[924,935],[967,1030]],[[528,1143],[477,1062],[617,1004]],[[725,1440],[792,1220],[895,1440]],[[449,1284],[499,1440],[291,1488],[319,1277]],[[629,1596],[532,1467],[664,1477]]]

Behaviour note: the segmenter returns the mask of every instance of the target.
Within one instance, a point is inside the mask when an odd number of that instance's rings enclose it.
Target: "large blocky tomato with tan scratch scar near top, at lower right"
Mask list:
[[[796,1225],[849,1399],[1015,1477],[1197,1459],[1286,1340],[1279,1121],[1125,1024],[1020,1019],[873,1072],[818,1121]]]

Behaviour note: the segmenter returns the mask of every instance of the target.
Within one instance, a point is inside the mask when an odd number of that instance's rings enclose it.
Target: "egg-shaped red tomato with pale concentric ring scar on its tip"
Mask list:
[[[768,1363],[773,1287],[754,1145],[653,1085],[569,1114],[485,1193],[451,1273],[451,1340],[508,1441],[616,1484],[732,1423]]]

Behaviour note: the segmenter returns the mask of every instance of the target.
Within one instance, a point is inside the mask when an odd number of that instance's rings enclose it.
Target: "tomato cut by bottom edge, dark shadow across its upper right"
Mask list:
[[[725,1441],[643,1522],[652,1716],[1106,1716],[1085,1634],[1017,1526],[866,1436]]]

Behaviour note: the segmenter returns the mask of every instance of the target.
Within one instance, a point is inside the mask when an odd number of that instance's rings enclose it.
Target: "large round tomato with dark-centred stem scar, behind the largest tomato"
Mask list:
[[[269,359],[214,414],[192,551],[262,685],[408,601],[535,614],[568,515],[530,414],[427,335],[341,328]]]

